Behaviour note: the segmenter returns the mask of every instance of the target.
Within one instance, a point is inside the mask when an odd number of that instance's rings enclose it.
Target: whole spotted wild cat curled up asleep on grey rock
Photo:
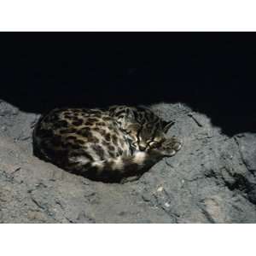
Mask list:
[[[182,142],[166,138],[173,124],[146,108],[56,108],[35,126],[34,154],[92,180],[125,183],[177,153]]]

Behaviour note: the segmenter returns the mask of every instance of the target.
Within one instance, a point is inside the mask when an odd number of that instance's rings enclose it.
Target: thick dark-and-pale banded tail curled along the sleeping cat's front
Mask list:
[[[148,151],[136,151],[131,156],[119,156],[108,160],[90,160],[84,155],[76,156],[77,171],[84,177],[105,182],[121,182],[136,180],[143,172],[163,157],[170,157],[181,148],[182,142],[175,137],[168,138],[159,148]],[[74,167],[74,166],[73,166]]]

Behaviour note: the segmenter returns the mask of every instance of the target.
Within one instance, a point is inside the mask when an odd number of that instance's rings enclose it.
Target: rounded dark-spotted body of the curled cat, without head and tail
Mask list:
[[[65,167],[69,157],[91,161],[130,154],[125,135],[101,109],[56,108],[39,119],[33,132],[34,152]]]

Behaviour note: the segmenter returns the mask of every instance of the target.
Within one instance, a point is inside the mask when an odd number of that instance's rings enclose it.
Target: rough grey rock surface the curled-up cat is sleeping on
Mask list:
[[[183,148],[131,183],[92,182],[32,155],[38,114],[0,102],[1,223],[255,223],[256,134],[224,135],[181,104],[152,106]]]

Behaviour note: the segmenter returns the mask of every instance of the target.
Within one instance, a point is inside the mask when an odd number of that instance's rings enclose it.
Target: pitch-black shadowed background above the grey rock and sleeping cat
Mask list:
[[[26,112],[184,102],[224,133],[256,131],[246,32],[2,32],[0,98]]]

